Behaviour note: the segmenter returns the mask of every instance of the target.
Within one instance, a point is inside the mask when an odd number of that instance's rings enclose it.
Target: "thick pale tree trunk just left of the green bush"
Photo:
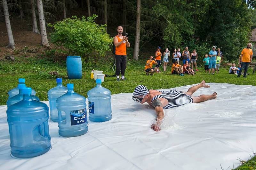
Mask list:
[[[38,16],[39,16],[39,23],[40,23],[40,31],[41,31],[41,44],[42,46],[49,46],[48,39],[47,39],[47,32],[45,27],[45,20],[44,20],[44,8],[42,0],[37,0],[37,8],[38,8]]]

